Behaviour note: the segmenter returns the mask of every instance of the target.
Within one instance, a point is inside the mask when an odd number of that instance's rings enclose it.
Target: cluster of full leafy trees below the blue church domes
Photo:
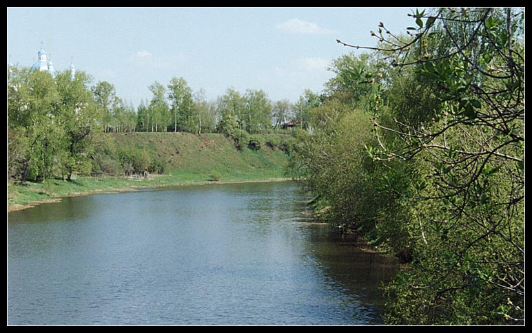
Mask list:
[[[8,176],[44,180],[90,171],[91,133],[99,129],[96,103],[83,72],[70,80],[11,69],[8,84]]]

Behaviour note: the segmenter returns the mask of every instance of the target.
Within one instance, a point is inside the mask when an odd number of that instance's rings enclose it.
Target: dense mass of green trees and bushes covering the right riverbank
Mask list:
[[[331,63],[291,170],[403,263],[391,325],[524,323],[524,10],[435,8]]]

